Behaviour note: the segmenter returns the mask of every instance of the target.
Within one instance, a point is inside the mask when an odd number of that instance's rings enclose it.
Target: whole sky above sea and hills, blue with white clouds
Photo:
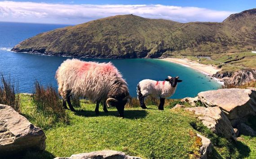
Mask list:
[[[179,22],[221,22],[252,8],[256,0],[0,0],[0,21],[75,25],[134,14]]]

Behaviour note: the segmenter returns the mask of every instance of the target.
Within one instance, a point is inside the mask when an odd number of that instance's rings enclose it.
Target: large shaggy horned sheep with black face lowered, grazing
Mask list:
[[[106,105],[115,106],[119,116],[124,117],[124,105],[129,95],[126,81],[112,63],[84,62],[79,59],[67,59],[56,71],[58,92],[71,111],[70,97],[85,97],[96,102],[95,113],[99,115],[99,104],[103,102],[104,112],[108,112]]]

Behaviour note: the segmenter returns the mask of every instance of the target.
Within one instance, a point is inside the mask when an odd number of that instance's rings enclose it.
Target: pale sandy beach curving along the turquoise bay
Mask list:
[[[203,72],[206,75],[213,75],[217,71],[221,71],[221,69],[213,67],[212,65],[204,65],[201,63],[197,63],[195,61],[191,61],[189,59],[165,58],[162,60],[169,61],[172,63],[178,63],[178,64],[184,65],[186,67],[191,67],[197,71]]]

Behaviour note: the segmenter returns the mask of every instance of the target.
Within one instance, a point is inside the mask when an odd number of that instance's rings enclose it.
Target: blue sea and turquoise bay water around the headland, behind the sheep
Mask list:
[[[18,79],[20,92],[31,92],[35,79],[41,84],[52,84],[57,88],[54,79],[58,66],[68,57],[54,57],[9,51],[18,42],[65,25],[44,25],[0,22],[0,71]],[[196,96],[201,91],[213,90],[220,86],[198,71],[176,63],[159,59],[84,59],[84,61],[111,61],[126,79],[130,94],[136,96],[136,86],[142,79],[164,80],[168,75],[180,76],[183,82],[177,86],[171,98]]]

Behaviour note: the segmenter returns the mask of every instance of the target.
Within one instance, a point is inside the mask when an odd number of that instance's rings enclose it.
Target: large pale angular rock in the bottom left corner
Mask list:
[[[31,124],[12,107],[0,104],[0,154],[27,149],[44,150],[43,130]]]

